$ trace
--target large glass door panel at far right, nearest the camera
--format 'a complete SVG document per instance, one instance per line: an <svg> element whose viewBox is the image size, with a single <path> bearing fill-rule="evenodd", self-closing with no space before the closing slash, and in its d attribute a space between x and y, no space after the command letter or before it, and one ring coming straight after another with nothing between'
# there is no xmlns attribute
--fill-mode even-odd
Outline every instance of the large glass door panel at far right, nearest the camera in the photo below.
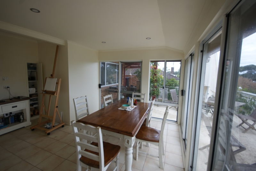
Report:
<svg viewBox="0 0 256 171"><path fill-rule="evenodd" d="M212 170L256 170L256 4L229 14L223 99Z"/></svg>

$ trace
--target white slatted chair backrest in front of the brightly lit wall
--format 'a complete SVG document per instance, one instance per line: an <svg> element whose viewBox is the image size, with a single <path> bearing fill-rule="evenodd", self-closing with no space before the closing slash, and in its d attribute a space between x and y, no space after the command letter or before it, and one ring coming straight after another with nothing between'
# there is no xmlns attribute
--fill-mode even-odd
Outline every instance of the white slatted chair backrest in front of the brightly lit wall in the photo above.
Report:
<svg viewBox="0 0 256 171"><path fill-rule="evenodd" d="M87 101L87 96L78 97L73 99L74 107L75 107L75 114L76 114L76 121L82 118L85 115L90 115L89 112L89 105ZM82 114L80 114L83 112Z"/></svg>

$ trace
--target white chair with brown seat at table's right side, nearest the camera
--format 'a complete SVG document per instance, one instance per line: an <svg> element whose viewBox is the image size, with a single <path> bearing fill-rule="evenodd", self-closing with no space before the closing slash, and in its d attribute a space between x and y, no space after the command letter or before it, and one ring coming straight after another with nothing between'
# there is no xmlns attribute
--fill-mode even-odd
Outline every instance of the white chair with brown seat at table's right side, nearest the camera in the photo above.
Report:
<svg viewBox="0 0 256 171"><path fill-rule="evenodd" d="M153 145L158 146L158 156L154 156L154 155L146 153L146 152L141 152L141 153L144 153L144 154L147 154L147 155L150 155L153 157L158 157L160 168L164 169L163 156L162 156L162 155L164 155L164 138L163 137L164 137L164 126L165 126L165 122L166 122L168 113L169 113L169 106L167 106L165 109L161 130L150 128L147 126L140 127L140 130L136 134L135 160L138 160L138 153L140 152L139 151L139 142L151 143Z"/></svg>

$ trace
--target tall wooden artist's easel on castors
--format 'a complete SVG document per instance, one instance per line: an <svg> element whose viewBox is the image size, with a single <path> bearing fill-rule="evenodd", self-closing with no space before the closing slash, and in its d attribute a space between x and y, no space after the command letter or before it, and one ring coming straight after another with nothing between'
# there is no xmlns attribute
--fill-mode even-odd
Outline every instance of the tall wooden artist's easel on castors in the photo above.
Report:
<svg viewBox="0 0 256 171"><path fill-rule="evenodd" d="M59 48L59 46L57 45L56 52L55 52L54 64L53 64L53 70L52 70L51 77L49 77L49 78L54 78L55 66L56 66L57 55L58 55L58 48ZM45 87L46 79L47 78L45 78L44 87ZM60 114L59 114L59 111L58 111L58 100L59 100L59 94L60 94L60 83L61 83L61 78L59 78L59 82L56 82L56 85L58 85L57 91L42 90L43 93L40 93L40 94L43 94L43 97L42 97L42 105L41 105L40 113L39 113L39 120L38 120L38 124L36 126L32 126L30 128L31 130L35 130L35 128L40 129L40 130L45 130L45 133L47 135L50 135L51 131L59 128L60 126L64 127L65 123L61 121ZM45 95L49 95L49 103L48 103L48 109L47 110L46 110L46 108L44 106ZM56 96L56 101L55 101L53 116L50 116L49 112L50 112L50 105L51 105L52 96ZM43 115L43 108L44 108L45 113L47 115ZM55 118L56 118L56 112L58 113L58 116L60 118L60 122L61 123L54 126ZM44 122L41 122L42 121L42 117L48 118L48 120L44 121ZM49 122L50 123L52 122L52 128L51 129L44 128L44 124L45 123L49 123Z"/></svg>

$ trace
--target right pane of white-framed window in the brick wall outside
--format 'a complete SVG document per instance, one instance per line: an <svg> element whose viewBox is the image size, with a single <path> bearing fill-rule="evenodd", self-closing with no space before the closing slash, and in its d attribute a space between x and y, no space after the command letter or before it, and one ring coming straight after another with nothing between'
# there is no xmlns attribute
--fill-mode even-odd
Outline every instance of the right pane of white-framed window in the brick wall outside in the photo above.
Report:
<svg viewBox="0 0 256 171"><path fill-rule="evenodd" d="M106 85L116 84L117 82L117 65L106 63Z"/></svg>

